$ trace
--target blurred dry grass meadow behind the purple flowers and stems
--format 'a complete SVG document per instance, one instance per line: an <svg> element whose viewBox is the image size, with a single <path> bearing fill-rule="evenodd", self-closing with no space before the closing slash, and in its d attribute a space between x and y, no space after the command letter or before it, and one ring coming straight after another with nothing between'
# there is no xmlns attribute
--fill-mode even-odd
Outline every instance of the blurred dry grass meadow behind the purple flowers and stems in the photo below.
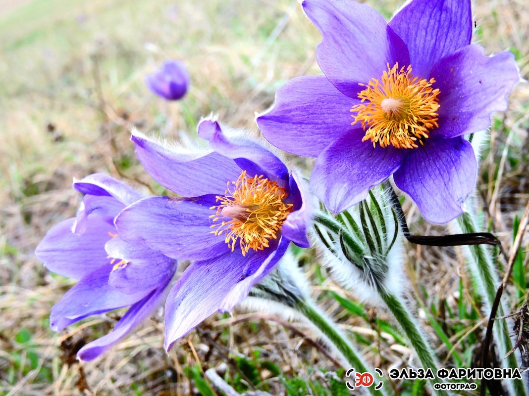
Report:
<svg viewBox="0 0 529 396"><path fill-rule="evenodd" d="M368 3L387 18L400 5ZM512 51L527 79L529 2L474 3L475 41L489 54ZM1 395L222 395L204 379L210 367L240 393L343 391L343 372L308 328L243 310L206 320L169 354L159 313L112 351L79 363L78 349L110 331L122 312L53 333L51 306L73 281L50 274L33 253L53 224L75 214L74 177L107 172L164 192L136 161L131 128L192 144L197 121L213 112L257 133L254 112L270 106L284 82L320 73L318 42L296 0L0 0ZM167 59L182 60L191 76L178 102L144 83ZM529 88L521 83L509 111L492 122L481 162L478 199L506 251L529 197L528 110ZM291 158L296 164L305 160ZM414 233L449 231L423 221L410 203L405 211ZM506 297L513 310L525 298L528 246ZM328 278L314 251L297 254L313 296L370 363L407 366L411 350L388 318ZM443 364L471 366L485 326L460 251L407 244L406 254L409 299ZM413 388L386 386L400 394Z"/></svg>

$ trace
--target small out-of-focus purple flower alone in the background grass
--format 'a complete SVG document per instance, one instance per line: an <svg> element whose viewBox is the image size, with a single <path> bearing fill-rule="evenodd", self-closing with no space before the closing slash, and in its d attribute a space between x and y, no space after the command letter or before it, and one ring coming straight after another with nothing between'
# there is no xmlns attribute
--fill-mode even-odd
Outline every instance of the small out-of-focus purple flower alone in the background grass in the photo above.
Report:
<svg viewBox="0 0 529 396"><path fill-rule="evenodd" d="M189 73L184 63L177 60L163 62L160 69L147 74L145 83L149 89L166 100L178 100L184 97L189 86Z"/></svg>

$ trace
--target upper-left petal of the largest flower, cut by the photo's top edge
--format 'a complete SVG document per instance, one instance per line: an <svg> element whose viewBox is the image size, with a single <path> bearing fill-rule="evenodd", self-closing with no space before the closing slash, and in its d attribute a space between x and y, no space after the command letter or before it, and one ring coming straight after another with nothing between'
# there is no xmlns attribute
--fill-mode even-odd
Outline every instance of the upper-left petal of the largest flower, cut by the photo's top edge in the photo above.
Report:
<svg viewBox="0 0 529 396"><path fill-rule="evenodd" d="M357 98L387 63L407 64L406 45L373 8L353 0L304 0L303 9L322 33L316 60L325 77L344 95Z"/></svg>

